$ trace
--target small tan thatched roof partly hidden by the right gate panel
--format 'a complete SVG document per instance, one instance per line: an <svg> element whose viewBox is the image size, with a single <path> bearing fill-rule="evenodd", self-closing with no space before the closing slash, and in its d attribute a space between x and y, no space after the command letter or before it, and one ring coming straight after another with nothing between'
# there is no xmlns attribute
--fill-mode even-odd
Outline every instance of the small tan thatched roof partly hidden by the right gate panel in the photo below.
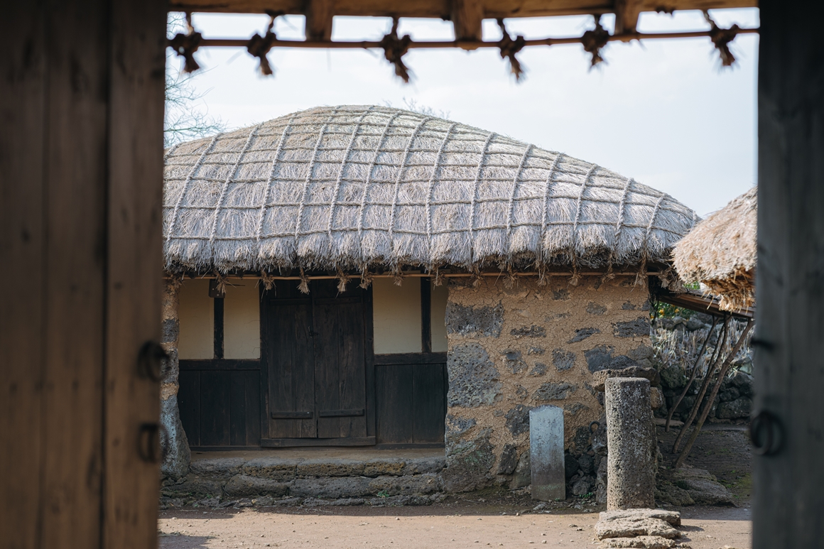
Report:
<svg viewBox="0 0 824 549"><path fill-rule="evenodd" d="M728 311L755 301L757 194L753 187L698 223L672 253L681 279L706 284Z"/></svg>

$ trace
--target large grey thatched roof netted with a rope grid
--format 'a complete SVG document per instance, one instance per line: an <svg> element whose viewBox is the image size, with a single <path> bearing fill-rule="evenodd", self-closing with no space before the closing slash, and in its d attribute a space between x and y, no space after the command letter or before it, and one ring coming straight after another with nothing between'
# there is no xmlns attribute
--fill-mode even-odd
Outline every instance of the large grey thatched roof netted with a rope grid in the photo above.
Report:
<svg viewBox="0 0 824 549"><path fill-rule="evenodd" d="M382 106L319 107L166 152L166 268L667 262L695 213L614 171Z"/></svg>

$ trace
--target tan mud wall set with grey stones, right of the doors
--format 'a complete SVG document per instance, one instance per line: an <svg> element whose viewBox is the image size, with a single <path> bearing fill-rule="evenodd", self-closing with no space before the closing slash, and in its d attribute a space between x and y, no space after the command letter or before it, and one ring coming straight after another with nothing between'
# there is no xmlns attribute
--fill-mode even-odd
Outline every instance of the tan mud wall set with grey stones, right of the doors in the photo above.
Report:
<svg viewBox="0 0 824 549"><path fill-rule="evenodd" d="M633 283L450 279L445 490L527 486L529 411L545 404L564 408L564 447L594 475L590 424L602 421L603 397L592 373L651 365L648 291Z"/></svg>

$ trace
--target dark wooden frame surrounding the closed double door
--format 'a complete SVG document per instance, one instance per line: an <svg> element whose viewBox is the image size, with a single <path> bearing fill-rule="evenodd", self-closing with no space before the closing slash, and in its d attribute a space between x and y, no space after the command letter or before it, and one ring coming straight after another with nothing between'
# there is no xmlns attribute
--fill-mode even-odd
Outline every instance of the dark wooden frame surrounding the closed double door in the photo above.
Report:
<svg viewBox="0 0 824 549"><path fill-rule="evenodd" d="M267 322L264 320L266 290L260 289L260 446L262 448L289 448L300 446L374 446L377 420L375 418L375 345L374 323L372 321L372 286L363 293L363 358L364 382L366 383L366 429L365 437L347 439L269 439L269 364L266 362L265 333ZM311 293L310 293L311 296ZM312 300L314 315L314 300Z"/></svg>

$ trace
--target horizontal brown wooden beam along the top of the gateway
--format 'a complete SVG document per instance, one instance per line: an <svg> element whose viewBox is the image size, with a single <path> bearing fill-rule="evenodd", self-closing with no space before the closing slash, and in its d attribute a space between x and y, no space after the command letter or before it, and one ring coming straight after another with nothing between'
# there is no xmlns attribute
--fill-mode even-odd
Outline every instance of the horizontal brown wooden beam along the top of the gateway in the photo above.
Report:
<svg viewBox="0 0 824 549"><path fill-rule="evenodd" d="M321 0L319 0L321 1ZM332 0L325 0L332 3ZM669 10L706 10L732 7L758 7L758 0L626 0L637 1L639 12ZM461 6L456 6L460 3ZM618 0L335 0L333 16L375 16L375 17L429 17L445 21L452 20L455 8L459 12L465 8L471 13L480 13L489 19L509 17L541 17L592 15L593 13L615 13ZM286 15L307 15L315 9L314 0L171 0L169 9L173 12L222 12L222 13L265 13L279 12ZM468 4L468 5L467 5ZM475 5L475 7L471 7ZM475 11L472 11L475 10ZM459 17L460 18L460 17ZM461 31L471 29L471 18ZM461 23L463 25L463 23ZM477 26L475 26L477 30Z"/></svg>

